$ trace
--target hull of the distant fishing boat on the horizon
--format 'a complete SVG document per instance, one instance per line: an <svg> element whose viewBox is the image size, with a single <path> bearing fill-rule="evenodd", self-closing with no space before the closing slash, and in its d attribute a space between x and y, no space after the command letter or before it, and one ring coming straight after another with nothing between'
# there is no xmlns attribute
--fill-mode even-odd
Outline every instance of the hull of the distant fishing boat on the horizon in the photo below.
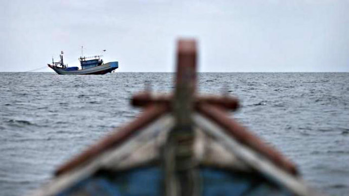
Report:
<svg viewBox="0 0 349 196"><path fill-rule="evenodd" d="M49 65L51 69L53 69L56 73L60 75L103 75L106 73L110 73L113 70L118 68L118 62L109 62L97 67L92 67L89 69L79 69L79 70L66 70L59 67L54 67Z"/></svg>

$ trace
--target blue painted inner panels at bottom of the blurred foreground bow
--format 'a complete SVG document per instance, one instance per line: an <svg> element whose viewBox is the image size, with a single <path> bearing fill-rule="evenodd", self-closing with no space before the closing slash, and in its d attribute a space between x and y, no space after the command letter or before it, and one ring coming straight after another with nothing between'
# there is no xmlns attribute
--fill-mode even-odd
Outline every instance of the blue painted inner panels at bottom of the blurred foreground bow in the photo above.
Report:
<svg viewBox="0 0 349 196"><path fill-rule="evenodd" d="M141 167L124 172L97 172L56 196L73 195L163 195L164 172L161 167ZM199 195L293 195L282 185L256 173L237 173L201 167Z"/></svg>

